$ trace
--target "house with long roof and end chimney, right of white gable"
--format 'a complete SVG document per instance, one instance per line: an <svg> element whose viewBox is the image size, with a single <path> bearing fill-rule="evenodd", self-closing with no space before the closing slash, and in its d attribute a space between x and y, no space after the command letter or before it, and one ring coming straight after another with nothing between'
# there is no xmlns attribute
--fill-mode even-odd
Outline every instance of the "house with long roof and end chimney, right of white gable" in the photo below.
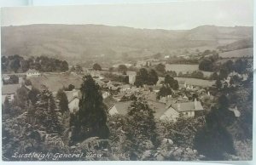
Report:
<svg viewBox="0 0 256 165"><path fill-rule="evenodd" d="M204 111L201 102L196 99L195 101L173 104L172 108L183 115L183 117L199 116L201 112Z"/></svg>

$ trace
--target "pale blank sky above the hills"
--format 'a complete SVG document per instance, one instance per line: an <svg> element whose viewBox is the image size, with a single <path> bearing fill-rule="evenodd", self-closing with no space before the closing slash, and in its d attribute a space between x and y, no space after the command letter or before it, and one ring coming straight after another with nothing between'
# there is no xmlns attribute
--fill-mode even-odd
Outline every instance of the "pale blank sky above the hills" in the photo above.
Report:
<svg viewBox="0 0 256 165"><path fill-rule="evenodd" d="M96 24L167 30L204 25L253 26L253 0L149 2L3 8L1 24Z"/></svg>

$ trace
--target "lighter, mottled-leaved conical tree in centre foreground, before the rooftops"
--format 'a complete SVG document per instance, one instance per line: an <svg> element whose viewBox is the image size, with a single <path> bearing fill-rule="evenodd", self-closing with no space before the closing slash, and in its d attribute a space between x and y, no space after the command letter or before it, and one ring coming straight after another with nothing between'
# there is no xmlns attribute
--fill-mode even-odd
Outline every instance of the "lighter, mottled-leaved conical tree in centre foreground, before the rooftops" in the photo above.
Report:
<svg viewBox="0 0 256 165"><path fill-rule="evenodd" d="M130 158L137 160L144 151L158 145L157 134L155 132L154 111L149 108L148 102L137 97L133 100L127 113L127 123L125 132Z"/></svg>

